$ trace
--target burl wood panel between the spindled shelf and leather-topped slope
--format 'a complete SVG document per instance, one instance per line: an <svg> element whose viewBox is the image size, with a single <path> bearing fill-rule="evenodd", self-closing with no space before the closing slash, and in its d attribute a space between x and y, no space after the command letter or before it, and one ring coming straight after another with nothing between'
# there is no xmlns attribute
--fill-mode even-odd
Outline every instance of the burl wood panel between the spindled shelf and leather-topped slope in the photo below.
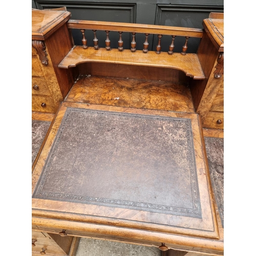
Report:
<svg viewBox="0 0 256 256"><path fill-rule="evenodd" d="M195 112L187 86L159 80L80 76L65 101Z"/></svg>

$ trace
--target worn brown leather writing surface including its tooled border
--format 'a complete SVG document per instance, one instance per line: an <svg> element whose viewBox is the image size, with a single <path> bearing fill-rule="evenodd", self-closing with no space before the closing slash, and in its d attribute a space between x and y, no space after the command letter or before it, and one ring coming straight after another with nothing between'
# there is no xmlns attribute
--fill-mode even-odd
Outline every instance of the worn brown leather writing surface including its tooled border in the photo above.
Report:
<svg viewBox="0 0 256 256"><path fill-rule="evenodd" d="M33 198L201 218L191 121L67 108Z"/></svg>

